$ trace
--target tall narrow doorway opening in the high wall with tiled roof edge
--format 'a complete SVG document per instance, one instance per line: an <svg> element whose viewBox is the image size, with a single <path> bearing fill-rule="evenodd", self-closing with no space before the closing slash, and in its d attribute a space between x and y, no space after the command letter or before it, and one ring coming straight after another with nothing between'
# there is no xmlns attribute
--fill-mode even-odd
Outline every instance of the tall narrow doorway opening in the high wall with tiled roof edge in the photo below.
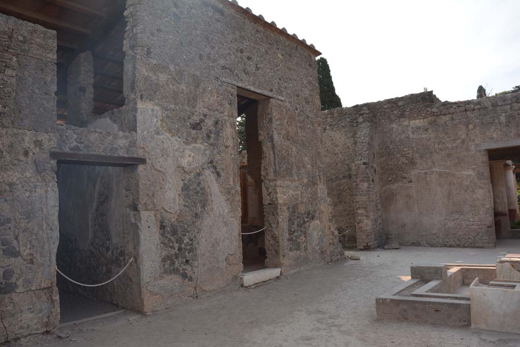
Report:
<svg viewBox="0 0 520 347"><path fill-rule="evenodd" d="M251 94L251 93L248 93ZM253 96L254 97L254 96ZM258 100L237 94L243 272L265 268L262 144L258 137Z"/></svg>

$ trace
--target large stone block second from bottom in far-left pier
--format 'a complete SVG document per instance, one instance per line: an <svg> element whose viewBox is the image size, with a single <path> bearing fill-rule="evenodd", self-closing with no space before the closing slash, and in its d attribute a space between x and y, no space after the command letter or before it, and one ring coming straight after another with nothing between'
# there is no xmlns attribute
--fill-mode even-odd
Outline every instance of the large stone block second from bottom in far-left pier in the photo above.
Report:
<svg viewBox="0 0 520 347"><path fill-rule="evenodd" d="M0 281L3 293L48 288L56 282L56 183L0 183Z"/></svg>

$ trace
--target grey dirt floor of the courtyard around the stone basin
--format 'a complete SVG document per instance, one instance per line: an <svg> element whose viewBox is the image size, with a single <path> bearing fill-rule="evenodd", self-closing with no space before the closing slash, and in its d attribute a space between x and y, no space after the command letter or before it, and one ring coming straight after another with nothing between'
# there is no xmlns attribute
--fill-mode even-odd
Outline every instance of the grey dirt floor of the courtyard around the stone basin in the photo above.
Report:
<svg viewBox="0 0 520 347"><path fill-rule="evenodd" d="M414 263L493 264L520 253L419 248L347 252L345 260L250 290L217 294L151 316L122 313L59 329L14 346L520 346L520 335L376 320L375 297L407 280Z"/></svg>

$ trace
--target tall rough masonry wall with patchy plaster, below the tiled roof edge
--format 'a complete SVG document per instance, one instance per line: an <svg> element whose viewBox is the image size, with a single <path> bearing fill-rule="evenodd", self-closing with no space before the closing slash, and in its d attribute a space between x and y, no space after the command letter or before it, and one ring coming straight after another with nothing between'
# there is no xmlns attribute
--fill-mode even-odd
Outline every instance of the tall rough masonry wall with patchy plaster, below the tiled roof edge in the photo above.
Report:
<svg viewBox="0 0 520 347"><path fill-rule="evenodd" d="M337 258L314 57L217 1L129 0L126 17L125 98L148 158L134 217L144 310L238 284L237 84L278 96L258 106L268 265Z"/></svg>

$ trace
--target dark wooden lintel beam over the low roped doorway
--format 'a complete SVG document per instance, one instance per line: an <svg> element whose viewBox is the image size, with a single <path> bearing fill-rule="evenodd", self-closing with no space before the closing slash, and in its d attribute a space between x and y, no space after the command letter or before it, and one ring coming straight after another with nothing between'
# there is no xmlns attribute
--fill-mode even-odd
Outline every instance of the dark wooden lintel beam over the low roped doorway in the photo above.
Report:
<svg viewBox="0 0 520 347"><path fill-rule="evenodd" d="M50 151L49 158L57 160L58 164L82 164L101 166L131 166L144 165L146 158L127 156L107 156L95 153Z"/></svg>

